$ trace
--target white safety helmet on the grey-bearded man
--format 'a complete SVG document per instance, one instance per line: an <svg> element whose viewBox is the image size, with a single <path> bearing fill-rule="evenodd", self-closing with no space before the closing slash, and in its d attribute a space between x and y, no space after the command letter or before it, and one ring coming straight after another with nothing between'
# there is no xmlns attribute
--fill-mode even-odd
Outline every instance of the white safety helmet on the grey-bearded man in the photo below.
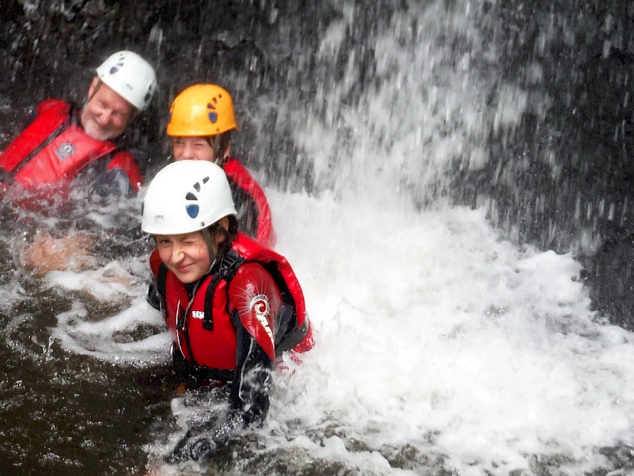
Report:
<svg viewBox="0 0 634 476"><path fill-rule="evenodd" d="M139 111L147 107L156 89L154 68L132 51L117 51L97 68L102 83Z"/></svg>

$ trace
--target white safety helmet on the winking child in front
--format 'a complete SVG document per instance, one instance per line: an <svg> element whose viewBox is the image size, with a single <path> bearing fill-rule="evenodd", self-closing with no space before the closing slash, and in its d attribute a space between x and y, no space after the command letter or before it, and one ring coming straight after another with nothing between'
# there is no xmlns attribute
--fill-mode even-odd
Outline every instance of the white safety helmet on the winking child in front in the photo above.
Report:
<svg viewBox="0 0 634 476"><path fill-rule="evenodd" d="M206 160L179 160L156 174L141 213L144 232L180 235L207 228L236 211L223 169Z"/></svg>

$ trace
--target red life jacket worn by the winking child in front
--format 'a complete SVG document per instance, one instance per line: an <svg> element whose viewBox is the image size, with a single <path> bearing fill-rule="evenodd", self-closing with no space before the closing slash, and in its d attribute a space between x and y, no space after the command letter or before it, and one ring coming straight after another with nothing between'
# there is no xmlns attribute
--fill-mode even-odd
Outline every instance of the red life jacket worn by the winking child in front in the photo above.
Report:
<svg viewBox="0 0 634 476"><path fill-rule="evenodd" d="M161 263L158 250L154 250L150 256L150 266L158 283L159 293L165 300L166 324L185 360L213 370L235 370L236 331L231 322L230 311L237 305L229 302L228 291L235 272L249 262L260 264L271 274L282 299L292 306L295 320L293 329L287 329L283 336L274 336L273 339L271 335L267 335L266 326L254 324L241 316L245 329L272 361L284 350L310 350L313 336L306 316L304 294L285 257L263 248L242 233L238 233L232 243L232 252L232 257L228 254L228 268L231 270L226 273L222 271L221 265L216 275L205 276L194 291L191 302L185 286ZM269 316L267 323L268 329L273 329L273 333L276 330L273 320L275 317Z"/></svg>

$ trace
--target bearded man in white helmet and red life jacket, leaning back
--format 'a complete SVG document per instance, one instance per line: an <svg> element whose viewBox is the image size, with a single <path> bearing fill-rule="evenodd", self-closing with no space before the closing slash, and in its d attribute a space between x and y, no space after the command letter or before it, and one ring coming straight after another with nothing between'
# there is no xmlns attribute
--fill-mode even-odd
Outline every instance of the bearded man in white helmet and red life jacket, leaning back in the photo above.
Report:
<svg viewBox="0 0 634 476"><path fill-rule="evenodd" d="M101 191L139 190L142 176L135 158L111 142L143 111L156 89L156 75L132 51L118 51L96 70L81 110L60 99L47 99L37 116L0 153L0 180L27 190L75 178L96 169Z"/></svg>

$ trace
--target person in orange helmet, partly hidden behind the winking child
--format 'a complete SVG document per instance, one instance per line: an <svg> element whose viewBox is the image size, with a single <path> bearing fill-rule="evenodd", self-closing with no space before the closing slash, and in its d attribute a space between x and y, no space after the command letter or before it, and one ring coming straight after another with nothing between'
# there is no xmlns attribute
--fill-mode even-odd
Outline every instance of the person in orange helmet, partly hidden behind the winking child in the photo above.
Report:
<svg viewBox="0 0 634 476"><path fill-rule="evenodd" d="M193 85L175 97L167 125L173 159L206 160L222 167L229 179L240 231L273 248L271 208L251 173L231 155L232 130L237 130L233 101L223 87Z"/></svg>

